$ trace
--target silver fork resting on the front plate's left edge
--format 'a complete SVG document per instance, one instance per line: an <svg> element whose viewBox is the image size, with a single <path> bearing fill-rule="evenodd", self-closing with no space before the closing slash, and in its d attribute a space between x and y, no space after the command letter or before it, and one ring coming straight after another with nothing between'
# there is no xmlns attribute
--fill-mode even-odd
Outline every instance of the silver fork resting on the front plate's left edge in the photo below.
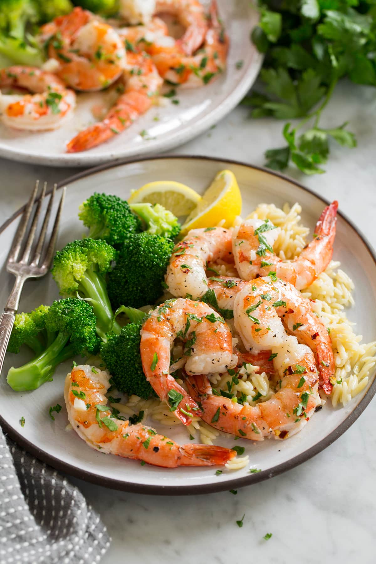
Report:
<svg viewBox="0 0 376 564"><path fill-rule="evenodd" d="M32 246L36 236L38 219L39 215L41 214L43 200L45 199L46 195L47 183L45 182L43 184L42 193L36 206L32 224L30 225L28 233L26 233L30 215L33 211L34 202L36 201L38 187L39 180L37 180L36 185L34 186L34 189L32 191L32 195L30 196L30 199L26 204L25 211L20 219L20 224L16 231L16 235L14 237L13 244L8 255L7 271L15 275L16 281L4 308L4 313L2 314L0 319L0 373L2 371L5 353L11 336L15 314L20 305L20 297L24 283L29 278L40 278L42 276L45 276L45 274L47 274L48 272L48 269L50 268L52 257L54 255L57 231L59 229L59 221L61 210L63 209L66 188L63 188L63 193L61 194L60 204L59 208L57 208L55 223L54 227L52 228L50 240L45 243L48 221L50 219L52 204L54 203L56 192L56 184L54 185L54 188L51 192L50 201L48 202L45 218L43 219L41 233L39 234L37 245L32 253Z"/></svg>

